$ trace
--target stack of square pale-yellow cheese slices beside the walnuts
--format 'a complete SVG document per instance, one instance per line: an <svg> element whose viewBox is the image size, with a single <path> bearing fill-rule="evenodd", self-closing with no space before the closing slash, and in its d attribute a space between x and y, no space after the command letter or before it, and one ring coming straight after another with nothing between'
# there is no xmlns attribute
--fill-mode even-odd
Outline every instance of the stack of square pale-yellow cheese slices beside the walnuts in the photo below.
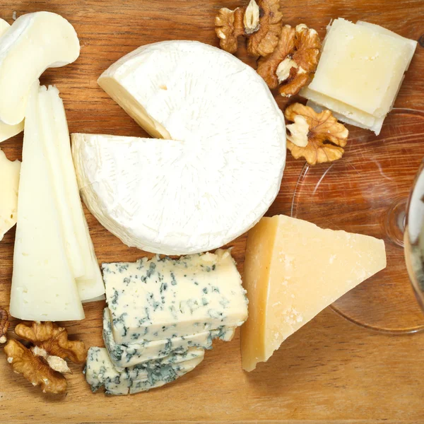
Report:
<svg viewBox="0 0 424 424"><path fill-rule="evenodd" d="M417 42L379 25L338 18L329 25L312 83L300 95L317 112L379 134Z"/></svg>

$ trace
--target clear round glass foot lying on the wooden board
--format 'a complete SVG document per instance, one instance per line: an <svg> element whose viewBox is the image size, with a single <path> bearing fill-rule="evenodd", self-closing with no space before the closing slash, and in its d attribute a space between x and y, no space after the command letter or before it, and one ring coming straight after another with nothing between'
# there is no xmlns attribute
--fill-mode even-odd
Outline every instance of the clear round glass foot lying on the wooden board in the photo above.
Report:
<svg viewBox="0 0 424 424"><path fill-rule="evenodd" d="M292 216L322 228L384 240L387 268L361 283L331 307L369 329L411 333L424 329L424 314L404 261L408 194L424 157L424 112L394 109L379 136L349 128L341 160L309 167L298 179Z"/></svg>

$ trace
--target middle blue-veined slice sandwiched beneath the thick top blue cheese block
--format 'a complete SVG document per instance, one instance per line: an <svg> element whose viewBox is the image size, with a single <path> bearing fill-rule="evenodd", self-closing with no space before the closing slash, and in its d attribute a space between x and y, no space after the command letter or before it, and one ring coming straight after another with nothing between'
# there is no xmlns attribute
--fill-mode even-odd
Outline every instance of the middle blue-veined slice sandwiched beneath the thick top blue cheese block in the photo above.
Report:
<svg viewBox="0 0 424 424"><path fill-rule="evenodd" d="M234 337L235 327L221 327L212 331L192 334L163 340L142 341L131 344L117 344L112 333L112 323L108 308L103 311L103 340L109 352L110 359L114 367L122 370L125 367L132 367L149 360L164 358L171 353L185 353L189 348L211 349L214 338L223 341L230 341Z"/></svg>

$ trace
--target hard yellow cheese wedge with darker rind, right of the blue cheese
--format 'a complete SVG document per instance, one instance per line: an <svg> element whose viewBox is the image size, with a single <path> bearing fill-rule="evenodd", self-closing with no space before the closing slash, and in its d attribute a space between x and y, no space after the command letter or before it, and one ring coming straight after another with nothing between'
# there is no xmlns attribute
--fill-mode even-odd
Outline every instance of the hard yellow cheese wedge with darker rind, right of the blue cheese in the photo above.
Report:
<svg viewBox="0 0 424 424"><path fill-rule="evenodd" d="M382 240L283 215L262 218L247 239L243 368L268 360L288 336L385 266Z"/></svg>

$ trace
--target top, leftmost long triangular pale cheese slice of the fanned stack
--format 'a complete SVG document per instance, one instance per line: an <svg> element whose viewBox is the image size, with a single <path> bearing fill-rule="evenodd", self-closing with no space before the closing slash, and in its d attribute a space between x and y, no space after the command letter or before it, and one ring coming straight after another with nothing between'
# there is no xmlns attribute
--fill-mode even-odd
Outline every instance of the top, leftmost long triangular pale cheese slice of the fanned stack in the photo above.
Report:
<svg viewBox="0 0 424 424"><path fill-rule="evenodd" d="M44 152L38 90L37 83L26 111L10 312L31 321L83 319Z"/></svg>

